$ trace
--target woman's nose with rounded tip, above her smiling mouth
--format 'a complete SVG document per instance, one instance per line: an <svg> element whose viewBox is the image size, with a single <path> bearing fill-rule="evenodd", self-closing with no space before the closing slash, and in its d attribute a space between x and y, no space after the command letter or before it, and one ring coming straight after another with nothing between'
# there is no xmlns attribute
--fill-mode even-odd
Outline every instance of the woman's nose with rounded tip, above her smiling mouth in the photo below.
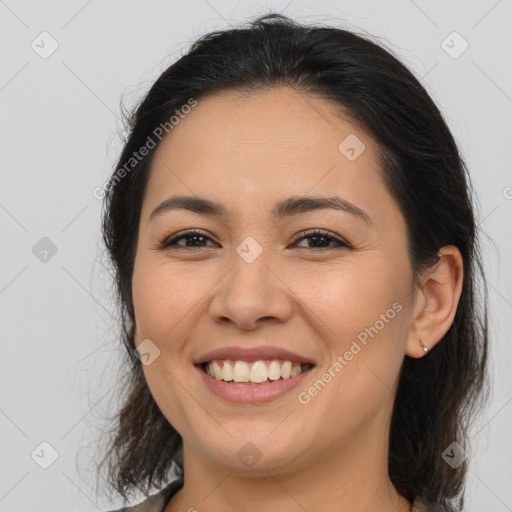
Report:
<svg viewBox="0 0 512 512"><path fill-rule="evenodd" d="M278 274L262 256L248 263L235 255L210 303L212 320L233 322L242 330L257 329L263 321L286 322L293 312L293 294Z"/></svg>

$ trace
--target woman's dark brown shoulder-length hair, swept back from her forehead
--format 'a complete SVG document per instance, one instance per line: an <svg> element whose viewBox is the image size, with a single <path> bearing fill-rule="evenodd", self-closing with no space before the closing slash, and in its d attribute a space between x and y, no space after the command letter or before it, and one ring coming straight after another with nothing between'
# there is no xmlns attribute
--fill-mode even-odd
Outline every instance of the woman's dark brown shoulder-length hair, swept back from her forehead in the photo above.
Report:
<svg viewBox="0 0 512 512"><path fill-rule="evenodd" d="M391 50L349 30L275 14L197 40L127 119L129 136L106 189L102 228L128 357L122 405L99 467L107 464L109 485L124 499L183 476L182 439L153 400L134 354L131 281L156 148L132 167L126 162L191 98L278 86L331 101L377 142L382 175L407 222L416 277L437 261L441 247L455 245L462 254L464 281L452 326L425 357L404 358L388 466L395 488L410 501L462 508L467 461L452 468L441 454L452 442L469 449L468 429L486 395L488 352L487 287L465 163L435 103Z"/></svg>

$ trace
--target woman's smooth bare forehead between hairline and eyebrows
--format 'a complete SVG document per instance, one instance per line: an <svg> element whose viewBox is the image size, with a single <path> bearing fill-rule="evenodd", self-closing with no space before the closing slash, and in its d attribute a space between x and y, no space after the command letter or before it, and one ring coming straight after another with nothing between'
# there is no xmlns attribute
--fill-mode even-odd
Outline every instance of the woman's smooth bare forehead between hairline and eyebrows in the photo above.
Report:
<svg viewBox="0 0 512 512"><path fill-rule="evenodd" d="M337 112L289 88L199 99L159 144L146 195L153 205L180 192L270 208L279 198L335 192L369 204L387 194L376 145Z"/></svg>

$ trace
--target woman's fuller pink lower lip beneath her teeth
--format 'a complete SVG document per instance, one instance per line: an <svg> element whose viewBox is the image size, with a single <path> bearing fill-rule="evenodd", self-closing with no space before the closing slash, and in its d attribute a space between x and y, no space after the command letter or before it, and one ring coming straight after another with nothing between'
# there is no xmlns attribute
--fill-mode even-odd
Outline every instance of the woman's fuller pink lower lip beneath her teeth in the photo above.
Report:
<svg viewBox="0 0 512 512"><path fill-rule="evenodd" d="M313 370L312 368L296 377L278 379L267 384L230 384L211 377L199 366L196 368L210 391L236 404L260 404L275 400L295 389Z"/></svg>

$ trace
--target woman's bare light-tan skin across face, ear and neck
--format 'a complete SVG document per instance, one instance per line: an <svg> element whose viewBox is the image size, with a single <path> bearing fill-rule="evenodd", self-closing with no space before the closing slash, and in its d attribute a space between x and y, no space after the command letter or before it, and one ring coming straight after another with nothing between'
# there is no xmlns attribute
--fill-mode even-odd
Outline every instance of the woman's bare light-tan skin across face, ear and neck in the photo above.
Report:
<svg viewBox="0 0 512 512"><path fill-rule="evenodd" d="M133 300L136 345L150 339L160 350L144 366L148 385L184 442L185 485L165 512L411 509L387 471L398 376L405 355L425 355L419 338L432 348L453 322L462 259L455 247L442 248L413 287L404 216L380 176L376 146L334 112L325 100L288 88L217 94L199 100L157 148ZM349 134L366 146L354 161L338 149ZM171 195L205 197L228 213L177 209L149 220ZM334 209L279 221L270 215L291 196L332 195L364 210L371 223ZM351 248L296 236L315 228ZM188 229L209 239L158 248ZM252 263L236 252L248 236L262 248ZM300 403L299 392L394 303L401 311ZM284 397L235 405L213 395L192 364L229 345L278 345L317 366ZM237 457L247 442L261 453L251 468Z"/></svg>

